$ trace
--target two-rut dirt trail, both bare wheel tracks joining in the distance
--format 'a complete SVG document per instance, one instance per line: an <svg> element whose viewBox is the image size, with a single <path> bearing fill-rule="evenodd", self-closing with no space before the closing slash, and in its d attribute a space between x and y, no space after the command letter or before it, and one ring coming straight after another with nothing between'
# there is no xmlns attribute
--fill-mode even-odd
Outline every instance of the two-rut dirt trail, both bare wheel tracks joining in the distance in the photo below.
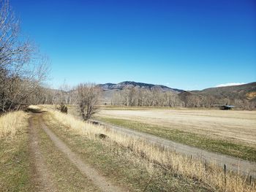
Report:
<svg viewBox="0 0 256 192"><path fill-rule="evenodd" d="M39 123L39 125L32 120L34 115L37 115L37 118L39 118L39 120L36 122ZM53 131L50 131L50 128L45 125L42 119L42 114L32 114L31 118L29 119L29 126L31 136L31 157L34 159L34 178L38 191L59 190L53 183L53 179L51 178L52 171L45 163L45 158L39 149L39 137L37 128L42 128L42 130L45 131L45 133L48 135L48 137L50 137L56 148L61 151L61 153L64 153L67 161L70 161L80 171L80 173L84 175L84 177L87 177L89 180L91 180L91 183L99 188L99 191L124 191L123 188L111 183L106 177L102 176L102 174L94 169L93 166L91 166L90 164L86 164L86 162L83 161L78 154L73 152L63 141L61 141L61 139L59 139L59 137L57 137L56 134L53 133ZM65 169L65 167L63 167L62 169ZM69 183L67 183L67 185L69 185ZM87 191L86 188L84 189L84 191Z"/></svg>

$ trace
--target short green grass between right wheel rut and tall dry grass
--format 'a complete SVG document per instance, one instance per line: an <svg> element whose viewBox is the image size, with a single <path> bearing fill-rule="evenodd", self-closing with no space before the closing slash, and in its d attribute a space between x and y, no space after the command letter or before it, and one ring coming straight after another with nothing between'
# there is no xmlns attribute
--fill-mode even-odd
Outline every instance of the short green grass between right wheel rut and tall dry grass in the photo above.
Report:
<svg viewBox="0 0 256 192"><path fill-rule="evenodd" d="M209 191L203 183L187 177L174 176L159 168L154 173L146 169L146 159L136 156L127 148L108 139L91 140L72 131L69 127L44 115L48 127L69 147L80 154L86 163L94 166L113 183L119 183L127 191Z"/></svg>

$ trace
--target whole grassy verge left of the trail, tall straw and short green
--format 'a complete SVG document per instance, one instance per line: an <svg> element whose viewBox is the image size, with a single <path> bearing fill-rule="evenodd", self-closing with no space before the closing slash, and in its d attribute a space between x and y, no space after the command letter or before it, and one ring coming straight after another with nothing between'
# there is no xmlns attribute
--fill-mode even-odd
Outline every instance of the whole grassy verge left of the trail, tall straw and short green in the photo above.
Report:
<svg viewBox="0 0 256 192"><path fill-rule="evenodd" d="M21 111L0 116L0 191L34 191L27 119Z"/></svg>

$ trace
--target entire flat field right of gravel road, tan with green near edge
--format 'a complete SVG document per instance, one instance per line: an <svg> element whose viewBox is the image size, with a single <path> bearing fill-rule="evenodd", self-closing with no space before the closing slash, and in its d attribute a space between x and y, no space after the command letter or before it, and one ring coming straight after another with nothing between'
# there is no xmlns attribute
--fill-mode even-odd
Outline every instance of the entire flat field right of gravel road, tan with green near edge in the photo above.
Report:
<svg viewBox="0 0 256 192"><path fill-rule="evenodd" d="M256 112L122 108L96 118L212 152L256 161Z"/></svg>

